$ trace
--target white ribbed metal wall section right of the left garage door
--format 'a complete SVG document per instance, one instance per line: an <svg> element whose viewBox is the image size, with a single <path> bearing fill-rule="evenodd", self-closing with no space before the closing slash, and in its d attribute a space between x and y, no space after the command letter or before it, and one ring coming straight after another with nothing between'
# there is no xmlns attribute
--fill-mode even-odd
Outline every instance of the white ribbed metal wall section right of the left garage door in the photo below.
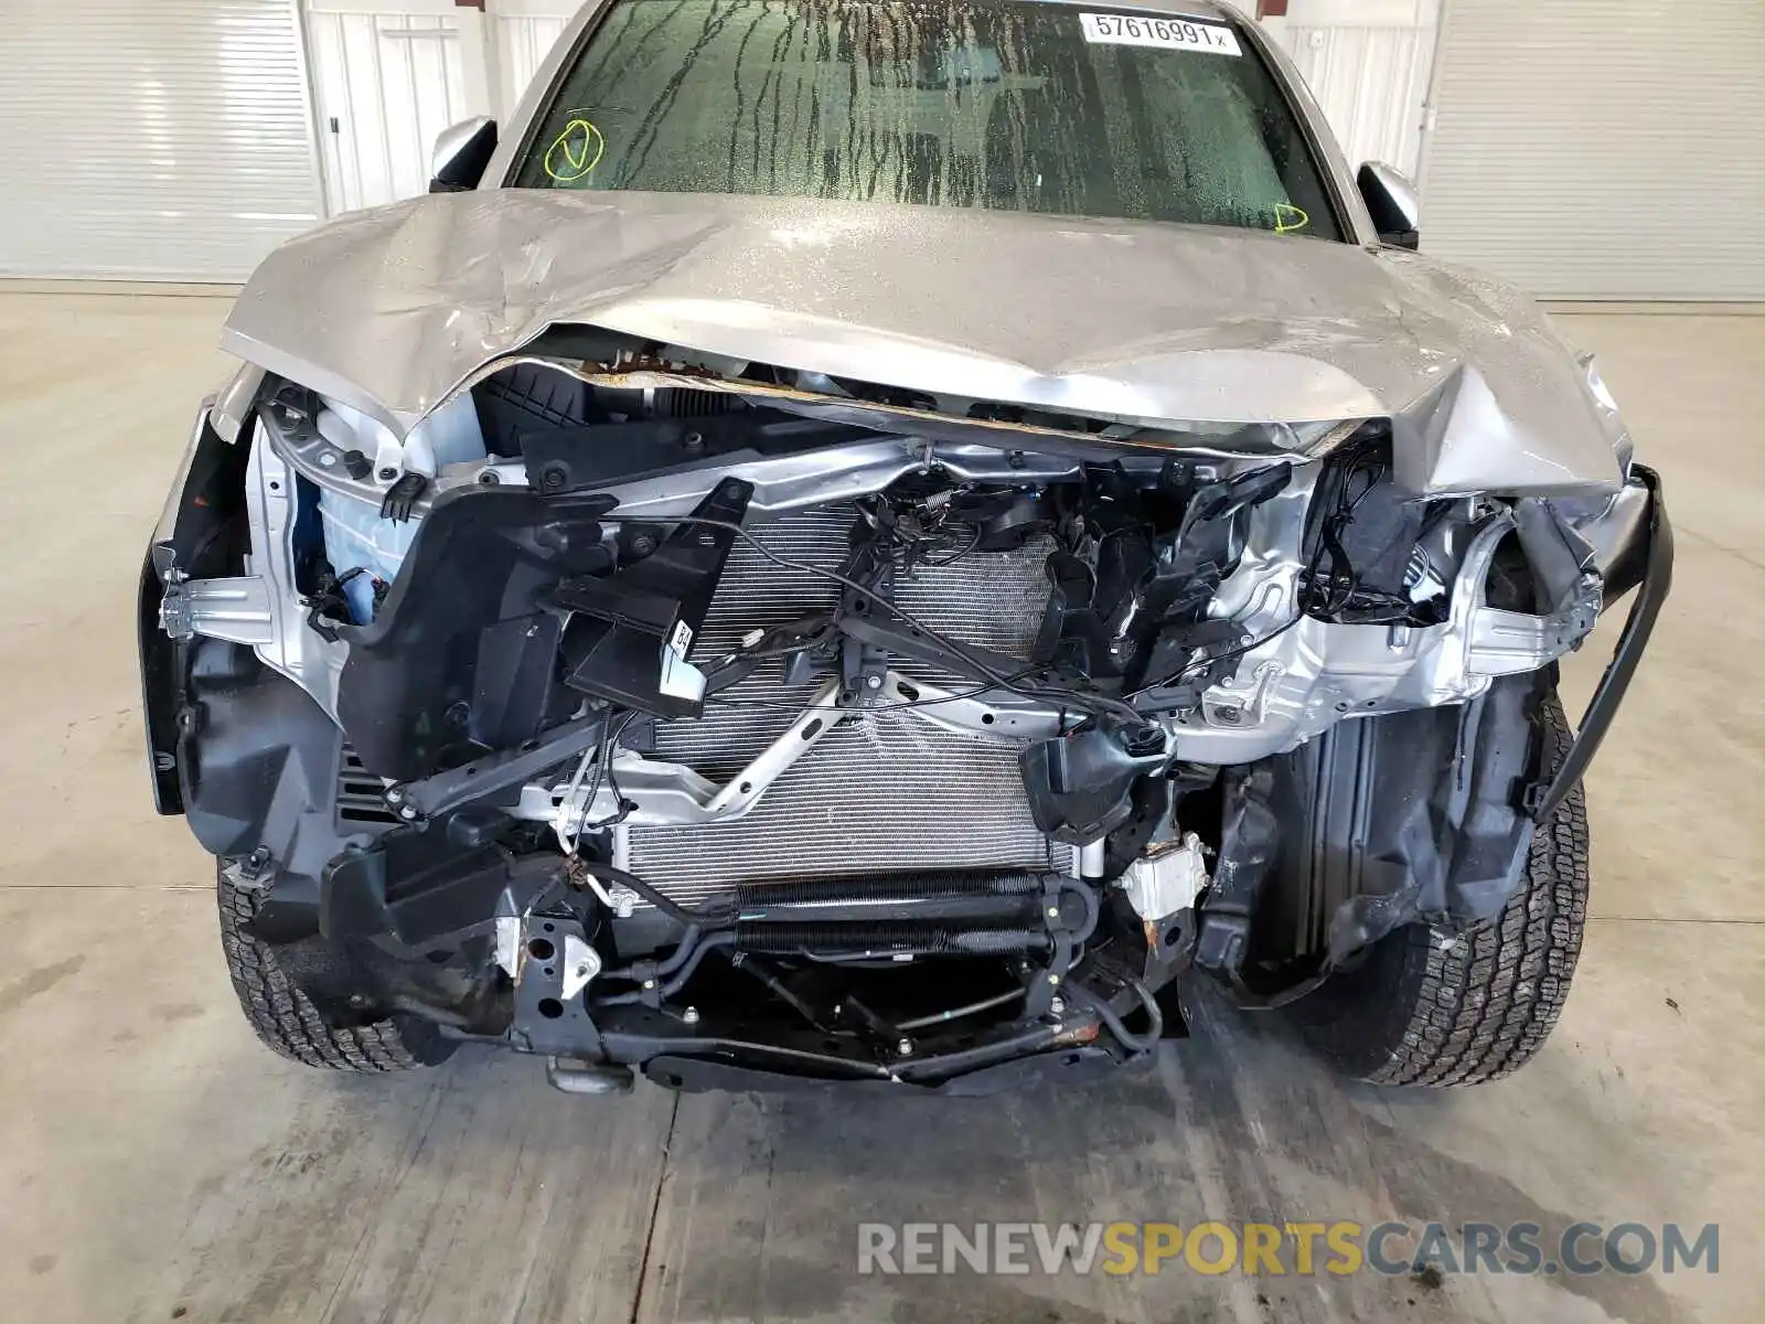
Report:
<svg viewBox="0 0 1765 1324"><path fill-rule="evenodd" d="M436 134L468 115L455 19L376 9L383 5L309 2L332 214L424 192Z"/></svg>

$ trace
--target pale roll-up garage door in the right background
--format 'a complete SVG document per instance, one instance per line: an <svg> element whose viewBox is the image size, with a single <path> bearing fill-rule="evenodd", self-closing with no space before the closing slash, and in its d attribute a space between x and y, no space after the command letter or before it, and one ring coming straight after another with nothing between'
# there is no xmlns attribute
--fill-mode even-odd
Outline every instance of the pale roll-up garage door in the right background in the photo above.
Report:
<svg viewBox="0 0 1765 1324"><path fill-rule="evenodd" d="M1765 298L1765 0L1447 0L1423 249L1558 298Z"/></svg>

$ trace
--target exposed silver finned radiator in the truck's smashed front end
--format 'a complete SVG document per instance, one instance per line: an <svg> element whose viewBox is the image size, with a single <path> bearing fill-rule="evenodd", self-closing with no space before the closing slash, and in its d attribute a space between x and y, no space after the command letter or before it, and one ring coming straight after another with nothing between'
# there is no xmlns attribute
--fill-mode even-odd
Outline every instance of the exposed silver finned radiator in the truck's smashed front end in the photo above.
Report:
<svg viewBox="0 0 1765 1324"><path fill-rule="evenodd" d="M851 507L822 507L752 531L778 556L835 570L852 519ZM1027 658L1048 602L1043 563L1050 549L1041 540L1017 553L921 567L897 584L895 600L960 643ZM837 598L837 584L785 570L738 542L692 657L715 660L748 630L826 611ZM897 660L895 669L951 688L974 685L923 664ZM658 724L653 757L724 782L796 718L817 685L787 687L784 666L770 662L715 696L702 718ZM1029 817L1020 749L1020 741L955 734L904 711L868 713L826 734L745 817L697 828L621 828L616 851L632 872L683 902L729 883L784 876L1066 872L1070 847L1052 846Z"/></svg>

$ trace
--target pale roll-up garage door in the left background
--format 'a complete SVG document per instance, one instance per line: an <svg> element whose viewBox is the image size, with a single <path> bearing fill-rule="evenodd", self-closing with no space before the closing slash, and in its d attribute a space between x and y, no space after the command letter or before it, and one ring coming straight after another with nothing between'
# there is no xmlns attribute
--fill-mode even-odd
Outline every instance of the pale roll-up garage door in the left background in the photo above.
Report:
<svg viewBox="0 0 1765 1324"><path fill-rule="evenodd" d="M295 0L0 9L0 274L237 281L319 219Z"/></svg>

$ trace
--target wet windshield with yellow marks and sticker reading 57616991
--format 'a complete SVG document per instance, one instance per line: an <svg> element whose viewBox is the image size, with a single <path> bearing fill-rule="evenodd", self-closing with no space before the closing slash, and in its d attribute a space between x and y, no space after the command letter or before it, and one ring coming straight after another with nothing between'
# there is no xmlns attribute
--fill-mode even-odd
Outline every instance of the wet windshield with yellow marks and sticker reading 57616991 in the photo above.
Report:
<svg viewBox="0 0 1765 1324"><path fill-rule="evenodd" d="M1221 21L997 0L620 0L558 88L521 187L1340 238L1274 76Z"/></svg>

